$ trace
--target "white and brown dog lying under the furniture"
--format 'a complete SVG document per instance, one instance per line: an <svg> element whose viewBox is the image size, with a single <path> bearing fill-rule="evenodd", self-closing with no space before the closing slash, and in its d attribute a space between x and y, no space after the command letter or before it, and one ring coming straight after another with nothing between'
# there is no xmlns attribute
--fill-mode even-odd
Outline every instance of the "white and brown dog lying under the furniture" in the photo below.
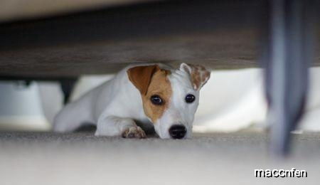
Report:
<svg viewBox="0 0 320 185"><path fill-rule="evenodd" d="M71 132L82 124L95 135L144 138L137 126L154 125L161 138L190 138L199 90L210 78L200 65L181 63L177 70L160 63L129 65L55 117L54 130Z"/></svg>

